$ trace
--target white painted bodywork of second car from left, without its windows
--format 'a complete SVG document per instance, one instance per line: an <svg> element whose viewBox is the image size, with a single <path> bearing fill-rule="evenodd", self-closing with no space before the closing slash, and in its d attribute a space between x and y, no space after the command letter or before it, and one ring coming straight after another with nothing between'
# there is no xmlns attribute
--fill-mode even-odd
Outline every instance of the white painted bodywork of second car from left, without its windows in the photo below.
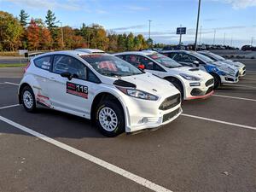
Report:
<svg viewBox="0 0 256 192"><path fill-rule="evenodd" d="M190 100L190 99L197 99L197 98L205 98L207 96L211 96L213 94L213 78L212 75L209 73L203 72L200 69L195 69L192 67L173 67L169 68L162 65L159 61L154 60L150 55L157 55L159 53L151 50L143 50L143 51L129 51L123 53L114 54L116 56L125 56L125 55L139 55L147 58L149 61L154 62L156 65L159 65L163 70L149 70L145 68L146 72L153 73L154 75L160 77L161 79L168 79L174 78L178 79L183 86L183 99ZM165 55L161 55L166 57ZM166 57L168 60L170 58ZM124 59L124 58L122 58ZM177 63L176 61L172 61ZM179 65L177 63L177 65ZM181 75L183 74L183 75ZM184 79L183 76L191 76L195 77L193 80Z"/></svg>

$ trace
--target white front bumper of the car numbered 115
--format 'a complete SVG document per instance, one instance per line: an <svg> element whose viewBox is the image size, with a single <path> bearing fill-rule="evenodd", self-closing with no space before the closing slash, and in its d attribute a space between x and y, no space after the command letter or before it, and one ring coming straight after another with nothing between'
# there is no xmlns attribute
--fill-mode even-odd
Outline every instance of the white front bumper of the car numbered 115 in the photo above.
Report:
<svg viewBox="0 0 256 192"><path fill-rule="evenodd" d="M179 94L179 93L177 93ZM181 102L179 101L172 108L161 110L160 106L165 99L160 101L143 101L136 98L127 97L130 101L125 106L126 127L125 131L131 133L145 129L154 129L161 125L166 125L182 113Z"/></svg>

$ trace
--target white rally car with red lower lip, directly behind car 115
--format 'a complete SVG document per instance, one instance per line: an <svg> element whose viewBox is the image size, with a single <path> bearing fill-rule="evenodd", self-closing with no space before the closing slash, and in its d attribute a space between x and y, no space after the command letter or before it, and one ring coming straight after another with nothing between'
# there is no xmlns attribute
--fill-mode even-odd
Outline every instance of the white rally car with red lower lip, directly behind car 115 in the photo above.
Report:
<svg viewBox="0 0 256 192"><path fill-rule="evenodd" d="M183 67L155 51L131 51L114 55L146 72L170 81L180 90L184 100L205 98L213 94L212 75L193 67Z"/></svg>

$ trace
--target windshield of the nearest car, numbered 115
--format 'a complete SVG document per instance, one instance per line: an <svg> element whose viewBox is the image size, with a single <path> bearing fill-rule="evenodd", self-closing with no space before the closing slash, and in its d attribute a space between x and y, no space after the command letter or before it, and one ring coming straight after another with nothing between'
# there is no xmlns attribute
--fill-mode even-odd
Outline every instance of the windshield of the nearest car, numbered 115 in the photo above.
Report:
<svg viewBox="0 0 256 192"><path fill-rule="evenodd" d="M109 77L124 77L142 74L143 72L130 63L113 55L80 55L98 73Z"/></svg>

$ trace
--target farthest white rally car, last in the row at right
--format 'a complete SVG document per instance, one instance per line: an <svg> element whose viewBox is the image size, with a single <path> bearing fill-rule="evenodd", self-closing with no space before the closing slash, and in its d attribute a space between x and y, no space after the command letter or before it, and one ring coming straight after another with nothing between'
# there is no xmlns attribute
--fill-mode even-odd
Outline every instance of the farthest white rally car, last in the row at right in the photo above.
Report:
<svg viewBox="0 0 256 192"><path fill-rule="evenodd" d="M198 53L200 53L201 55L205 55L205 56L211 58L213 61L221 61L221 62L224 62L224 63L227 63L227 64L229 64L231 66L236 67L238 69L238 72L239 72L239 77L243 77L243 76L246 75L246 66L243 63L241 63L241 62L227 60L224 57L222 57L220 55L217 55L217 54L213 54L210 51L198 51Z"/></svg>

